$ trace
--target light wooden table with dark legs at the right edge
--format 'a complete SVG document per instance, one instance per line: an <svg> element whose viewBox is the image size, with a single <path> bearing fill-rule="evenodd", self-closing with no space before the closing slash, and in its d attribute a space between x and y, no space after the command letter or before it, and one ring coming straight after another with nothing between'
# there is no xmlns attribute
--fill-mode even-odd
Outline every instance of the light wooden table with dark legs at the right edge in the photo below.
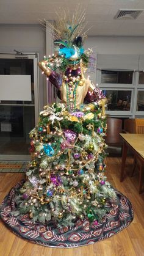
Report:
<svg viewBox="0 0 144 256"><path fill-rule="evenodd" d="M124 167L126 164L126 156L128 148L134 153L134 156L140 161L140 177L139 177L139 192L142 189L142 167L144 164L144 134L120 133L123 139L123 154L121 163L121 177L124 178Z"/></svg>

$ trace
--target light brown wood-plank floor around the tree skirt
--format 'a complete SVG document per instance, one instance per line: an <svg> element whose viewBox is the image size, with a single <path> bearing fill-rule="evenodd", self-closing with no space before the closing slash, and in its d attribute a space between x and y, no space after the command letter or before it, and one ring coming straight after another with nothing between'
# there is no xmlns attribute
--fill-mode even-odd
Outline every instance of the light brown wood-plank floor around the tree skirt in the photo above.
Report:
<svg viewBox="0 0 144 256"><path fill-rule="evenodd" d="M1 256L142 256L144 255L144 193L139 195L138 175L130 177L132 158L127 159L126 177L120 183L121 158L107 158L107 179L126 195L134 208L134 221L129 227L111 238L99 243L75 249L55 249L38 246L15 236L0 222ZM23 174L0 174L0 201Z"/></svg>

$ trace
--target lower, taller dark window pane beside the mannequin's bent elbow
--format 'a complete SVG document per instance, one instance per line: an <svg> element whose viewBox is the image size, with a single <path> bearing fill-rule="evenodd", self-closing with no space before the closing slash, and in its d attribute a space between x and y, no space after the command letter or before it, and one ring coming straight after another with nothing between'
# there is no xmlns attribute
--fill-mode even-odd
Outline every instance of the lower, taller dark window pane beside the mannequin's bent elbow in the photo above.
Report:
<svg viewBox="0 0 144 256"><path fill-rule="evenodd" d="M107 97L108 111L130 111L131 90L103 90Z"/></svg>

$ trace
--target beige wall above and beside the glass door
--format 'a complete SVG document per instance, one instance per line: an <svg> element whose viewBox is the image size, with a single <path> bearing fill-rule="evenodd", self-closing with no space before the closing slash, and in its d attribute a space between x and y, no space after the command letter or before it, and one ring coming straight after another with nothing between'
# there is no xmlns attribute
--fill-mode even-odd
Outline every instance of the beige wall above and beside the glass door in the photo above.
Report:
<svg viewBox="0 0 144 256"><path fill-rule="evenodd" d="M39 53L43 59L45 49L45 30L40 25L0 24L0 53L13 53L13 48L24 53ZM39 70L40 110L46 103L45 77Z"/></svg>

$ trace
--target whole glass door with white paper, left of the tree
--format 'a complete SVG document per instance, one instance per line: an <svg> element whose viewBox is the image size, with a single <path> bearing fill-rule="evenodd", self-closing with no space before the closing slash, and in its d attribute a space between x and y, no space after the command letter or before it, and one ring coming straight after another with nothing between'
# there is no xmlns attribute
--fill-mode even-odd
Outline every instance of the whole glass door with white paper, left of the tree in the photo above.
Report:
<svg viewBox="0 0 144 256"><path fill-rule="evenodd" d="M0 160L29 160L38 119L37 54L0 54Z"/></svg>

